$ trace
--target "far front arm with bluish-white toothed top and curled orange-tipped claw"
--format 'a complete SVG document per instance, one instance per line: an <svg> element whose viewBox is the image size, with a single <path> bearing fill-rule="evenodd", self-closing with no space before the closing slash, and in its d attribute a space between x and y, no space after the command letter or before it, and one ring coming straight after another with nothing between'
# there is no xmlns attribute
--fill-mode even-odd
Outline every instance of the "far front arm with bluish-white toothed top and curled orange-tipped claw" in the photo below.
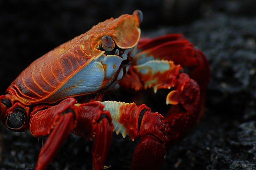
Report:
<svg viewBox="0 0 256 170"><path fill-rule="evenodd" d="M131 66L120 85L137 90L152 87L155 92L161 88L171 90L167 95L166 104L173 106L162 120L168 130L169 143L184 137L198 118L199 86L183 72L180 65L174 65L171 61L152 60Z"/></svg>

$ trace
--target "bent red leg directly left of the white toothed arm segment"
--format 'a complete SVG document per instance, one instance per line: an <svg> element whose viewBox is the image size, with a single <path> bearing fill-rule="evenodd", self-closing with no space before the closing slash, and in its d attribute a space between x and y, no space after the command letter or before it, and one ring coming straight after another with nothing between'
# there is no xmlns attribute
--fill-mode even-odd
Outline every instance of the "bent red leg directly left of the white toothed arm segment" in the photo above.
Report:
<svg viewBox="0 0 256 170"><path fill-rule="evenodd" d="M114 128L110 113L103 111L103 107L104 105L93 100L74 106L77 112L77 126L72 132L90 140L94 137L93 169L103 169Z"/></svg>

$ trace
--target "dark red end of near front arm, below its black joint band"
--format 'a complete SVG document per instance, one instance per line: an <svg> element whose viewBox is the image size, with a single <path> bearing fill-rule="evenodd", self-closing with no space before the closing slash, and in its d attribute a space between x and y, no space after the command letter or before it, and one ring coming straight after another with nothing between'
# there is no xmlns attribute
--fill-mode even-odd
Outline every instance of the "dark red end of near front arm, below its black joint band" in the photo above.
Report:
<svg viewBox="0 0 256 170"><path fill-rule="evenodd" d="M141 141L133 153L131 169L160 169L167 140L162 118L158 113L145 111L139 129Z"/></svg>

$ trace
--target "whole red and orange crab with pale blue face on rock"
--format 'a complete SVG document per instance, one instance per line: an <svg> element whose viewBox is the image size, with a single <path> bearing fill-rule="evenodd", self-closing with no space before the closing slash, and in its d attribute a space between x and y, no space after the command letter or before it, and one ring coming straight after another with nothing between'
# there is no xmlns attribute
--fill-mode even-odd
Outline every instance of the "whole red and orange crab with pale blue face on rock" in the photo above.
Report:
<svg viewBox="0 0 256 170"><path fill-rule="evenodd" d="M139 137L132 169L159 169L166 147L204 112L210 70L204 54L182 34L140 39L142 12L98 23L31 63L0 96L10 130L48 136L35 169L45 169L72 132L93 141L93 169L103 169L112 131ZM189 72L185 73L184 69ZM145 104L103 101L117 89L169 89L163 117Z"/></svg>

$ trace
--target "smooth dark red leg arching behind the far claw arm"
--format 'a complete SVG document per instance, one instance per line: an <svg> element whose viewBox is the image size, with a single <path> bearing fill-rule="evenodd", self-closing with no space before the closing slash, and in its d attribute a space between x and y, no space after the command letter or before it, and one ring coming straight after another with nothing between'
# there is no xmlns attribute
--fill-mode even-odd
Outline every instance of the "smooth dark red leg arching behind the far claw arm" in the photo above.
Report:
<svg viewBox="0 0 256 170"><path fill-rule="evenodd" d="M201 113L204 112L207 85L210 81L210 66L204 54L194 48L182 34L168 34L153 39L142 40L139 52L134 57L133 65L140 65L150 60L168 60L176 65L189 68L189 76L200 86Z"/></svg>

